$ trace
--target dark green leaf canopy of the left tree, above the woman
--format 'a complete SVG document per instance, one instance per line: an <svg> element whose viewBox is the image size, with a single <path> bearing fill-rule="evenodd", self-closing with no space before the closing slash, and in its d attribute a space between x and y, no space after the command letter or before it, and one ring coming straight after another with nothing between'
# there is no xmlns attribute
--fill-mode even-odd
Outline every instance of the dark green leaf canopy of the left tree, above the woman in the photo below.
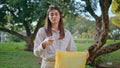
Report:
<svg viewBox="0 0 120 68"><path fill-rule="evenodd" d="M5 0L1 1L0 4L2 7L0 11L2 12L1 19L5 19L7 22L1 21L1 25L10 24L10 28L14 28L15 26L23 27L24 22L28 23L31 30L32 24L34 21L38 21L39 19L45 18L46 11L50 4L56 4L60 6L63 14L65 15L68 12L74 10L74 0L60 1L58 4L57 1L51 0ZM73 8L71 8L73 7ZM7 12L7 13L6 13ZM72 13L72 12L71 12ZM1 26L0 25L0 26ZM23 26L22 26L23 25Z"/></svg>

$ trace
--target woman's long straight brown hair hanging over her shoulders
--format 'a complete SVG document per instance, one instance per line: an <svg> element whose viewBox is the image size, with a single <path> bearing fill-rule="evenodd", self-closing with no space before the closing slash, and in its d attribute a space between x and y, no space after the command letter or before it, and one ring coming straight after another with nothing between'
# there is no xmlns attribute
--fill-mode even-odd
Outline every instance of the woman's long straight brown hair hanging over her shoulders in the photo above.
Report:
<svg viewBox="0 0 120 68"><path fill-rule="evenodd" d="M58 29L60 31L60 36L59 36L59 39L63 39L65 37L65 32L64 32L64 23L63 23L63 19L62 19L62 14L59 10L59 8L55 5L50 5L49 6L49 9L47 11L47 15L46 15L46 25L45 25L45 30L46 30L46 34L48 37L52 36L52 24L51 24L51 21L49 19L49 12L51 10L57 10L60 14L60 21L59 21L59 24L58 24Z"/></svg>

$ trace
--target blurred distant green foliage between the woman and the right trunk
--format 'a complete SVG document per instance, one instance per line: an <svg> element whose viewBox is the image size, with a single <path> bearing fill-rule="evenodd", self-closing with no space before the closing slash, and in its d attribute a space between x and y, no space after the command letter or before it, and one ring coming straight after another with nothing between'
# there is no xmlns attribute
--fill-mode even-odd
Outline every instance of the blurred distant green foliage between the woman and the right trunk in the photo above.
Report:
<svg viewBox="0 0 120 68"><path fill-rule="evenodd" d="M78 35L80 37L82 37L83 33L88 34L90 37L93 35L93 27L95 25L94 21L90 21L80 16L75 18L73 16L66 16L64 22L65 27L74 35Z"/></svg>

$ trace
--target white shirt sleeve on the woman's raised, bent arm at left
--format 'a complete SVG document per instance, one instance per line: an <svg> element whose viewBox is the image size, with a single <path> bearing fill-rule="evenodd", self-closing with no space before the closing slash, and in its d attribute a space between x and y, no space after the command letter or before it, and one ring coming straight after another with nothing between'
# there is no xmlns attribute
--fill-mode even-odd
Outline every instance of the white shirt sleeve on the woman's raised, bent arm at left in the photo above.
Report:
<svg viewBox="0 0 120 68"><path fill-rule="evenodd" d="M39 31L36 35L35 41L34 41L34 55L37 57L40 57L44 51L44 49L42 47L42 42L44 40L44 32L43 31L44 31L43 28L39 29Z"/></svg>

